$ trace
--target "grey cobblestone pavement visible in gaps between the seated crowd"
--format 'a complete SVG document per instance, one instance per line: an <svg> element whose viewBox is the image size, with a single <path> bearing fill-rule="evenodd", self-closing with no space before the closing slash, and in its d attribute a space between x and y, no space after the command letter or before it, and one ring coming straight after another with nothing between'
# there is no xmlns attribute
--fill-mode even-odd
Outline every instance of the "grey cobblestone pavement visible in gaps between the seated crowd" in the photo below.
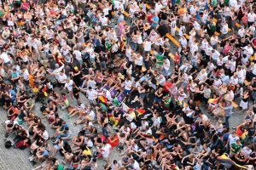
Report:
<svg viewBox="0 0 256 170"><path fill-rule="evenodd" d="M175 52L176 48L172 47L172 52ZM172 65L173 67L173 65ZM236 104L239 105L241 99L236 99ZM81 101L83 103L88 103L88 100L85 99L84 95L81 95ZM71 105L75 105L75 102L73 102ZM41 111L39 110L40 108L40 104L37 103L33 109L33 112L38 115L38 116L42 116ZM212 119L212 124L214 124L217 119L214 119L212 116L209 116L207 114L207 110L206 108L201 108L201 110L209 117ZM82 127L82 125L78 125L76 127L73 126L73 122L76 119L75 117L72 117L71 119L67 119L67 110L66 111L61 111L61 109L59 109L58 111L59 115L61 116L62 119L64 119L65 121L67 121L67 123L69 124L69 127L71 128L71 131L73 132L73 135L76 135L77 132L79 131L79 129ZM3 108L0 108L0 114L2 115L3 119L0 122L3 125L4 122L4 117L6 116L6 111L3 110ZM241 111L239 111L239 109L234 109L234 114L233 116L230 117L230 127L236 127L238 124L240 124L242 122L244 115L241 113ZM224 121L224 120L223 120ZM43 120L44 124L47 125L48 122L44 119ZM23 124L23 126L27 127L25 124ZM97 127L97 126L96 126ZM53 136L54 134L54 130L46 127L47 131L49 133L50 136ZM35 166L32 166L32 163L27 159L30 155L28 153L29 149L26 150L19 150L19 149L14 149L14 148L10 148L10 149L5 149L4 147L4 134L5 134L5 130L3 126L0 126L0 140L2 140L2 142L0 142L0 169L8 169L8 170L15 170L15 169L20 169L20 170L28 170L31 169L32 167L37 167L39 165L39 163ZM69 141L69 143L71 144L71 141ZM51 140L49 139L49 144L51 144ZM61 159L61 156L59 155L59 153L56 154L56 157L58 159ZM119 153L113 149L111 151L110 154L110 161L118 160L119 161ZM99 170L103 170L103 161L102 158L97 160L98 162L98 169Z"/></svg>

